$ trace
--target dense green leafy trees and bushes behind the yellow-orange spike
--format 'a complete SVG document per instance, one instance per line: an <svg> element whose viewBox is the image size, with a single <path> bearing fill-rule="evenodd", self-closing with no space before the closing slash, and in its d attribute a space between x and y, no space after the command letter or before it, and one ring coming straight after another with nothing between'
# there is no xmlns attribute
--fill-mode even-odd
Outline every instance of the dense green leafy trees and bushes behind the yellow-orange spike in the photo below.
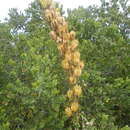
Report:
<svg viewBox="0 0 130 130"><path fill-rule="evenodd" d="M130 6L68 10L85 67L78 116L68 119L66 75L37 1L0 23L0 130L129 130ZM62 7L60 7L64 14Z"/></svg>

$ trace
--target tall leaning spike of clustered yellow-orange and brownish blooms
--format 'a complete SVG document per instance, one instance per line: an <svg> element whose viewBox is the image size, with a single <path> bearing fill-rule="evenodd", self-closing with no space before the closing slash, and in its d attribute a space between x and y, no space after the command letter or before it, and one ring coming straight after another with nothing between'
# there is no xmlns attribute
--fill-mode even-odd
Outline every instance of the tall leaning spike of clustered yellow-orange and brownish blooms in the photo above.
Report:
<svg viewBox="0 0 130 130"><path fill-rule="evenodd" d="M57 48L62 57L61 65L68 74L69 90L67 97L69 106L65 108L65 114L71 117L79 109L79 97L82 93L81 87L77 84L84 67L78 51L79 42L75 38L76 33L74 31L69 32L65 18L54 8L52 0L39 1L42 8L45 9L45 17L52 29L50 36L57 43Z"/></svg>

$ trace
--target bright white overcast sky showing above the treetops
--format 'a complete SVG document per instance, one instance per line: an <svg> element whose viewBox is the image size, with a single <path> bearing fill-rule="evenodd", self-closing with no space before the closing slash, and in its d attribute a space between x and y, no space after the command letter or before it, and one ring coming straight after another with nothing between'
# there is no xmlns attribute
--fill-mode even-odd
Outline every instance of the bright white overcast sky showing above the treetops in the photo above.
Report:
<svg viewBox="0 0 130 130"><path fill-rule="evenodd" d="M5 17L8 16L8 10L10 8L18 8L19 10L23 11L26 9L30 2L34 0L1 0L0 3L0 20L3 20ZM64 9L67 8L77 8L78 6L82 5L87 7L89 5L99 5L100 0L54 0L63 4Z"/></svg>

